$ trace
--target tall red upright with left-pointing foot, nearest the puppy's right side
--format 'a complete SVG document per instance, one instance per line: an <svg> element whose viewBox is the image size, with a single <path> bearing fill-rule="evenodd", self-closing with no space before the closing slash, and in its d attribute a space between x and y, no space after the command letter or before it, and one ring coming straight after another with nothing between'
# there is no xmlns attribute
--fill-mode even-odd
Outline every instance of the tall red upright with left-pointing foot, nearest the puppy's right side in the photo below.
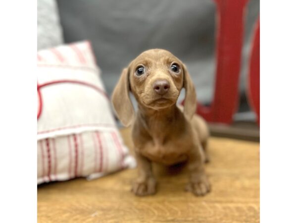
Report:
<svg viewBox="0 0 297 223"><path fill-rule="evenodd" d="M197 113L209 122L231 123L237 111L239 74L247 0L215 0L217 4L216 78L210 107Z"/></svg>

